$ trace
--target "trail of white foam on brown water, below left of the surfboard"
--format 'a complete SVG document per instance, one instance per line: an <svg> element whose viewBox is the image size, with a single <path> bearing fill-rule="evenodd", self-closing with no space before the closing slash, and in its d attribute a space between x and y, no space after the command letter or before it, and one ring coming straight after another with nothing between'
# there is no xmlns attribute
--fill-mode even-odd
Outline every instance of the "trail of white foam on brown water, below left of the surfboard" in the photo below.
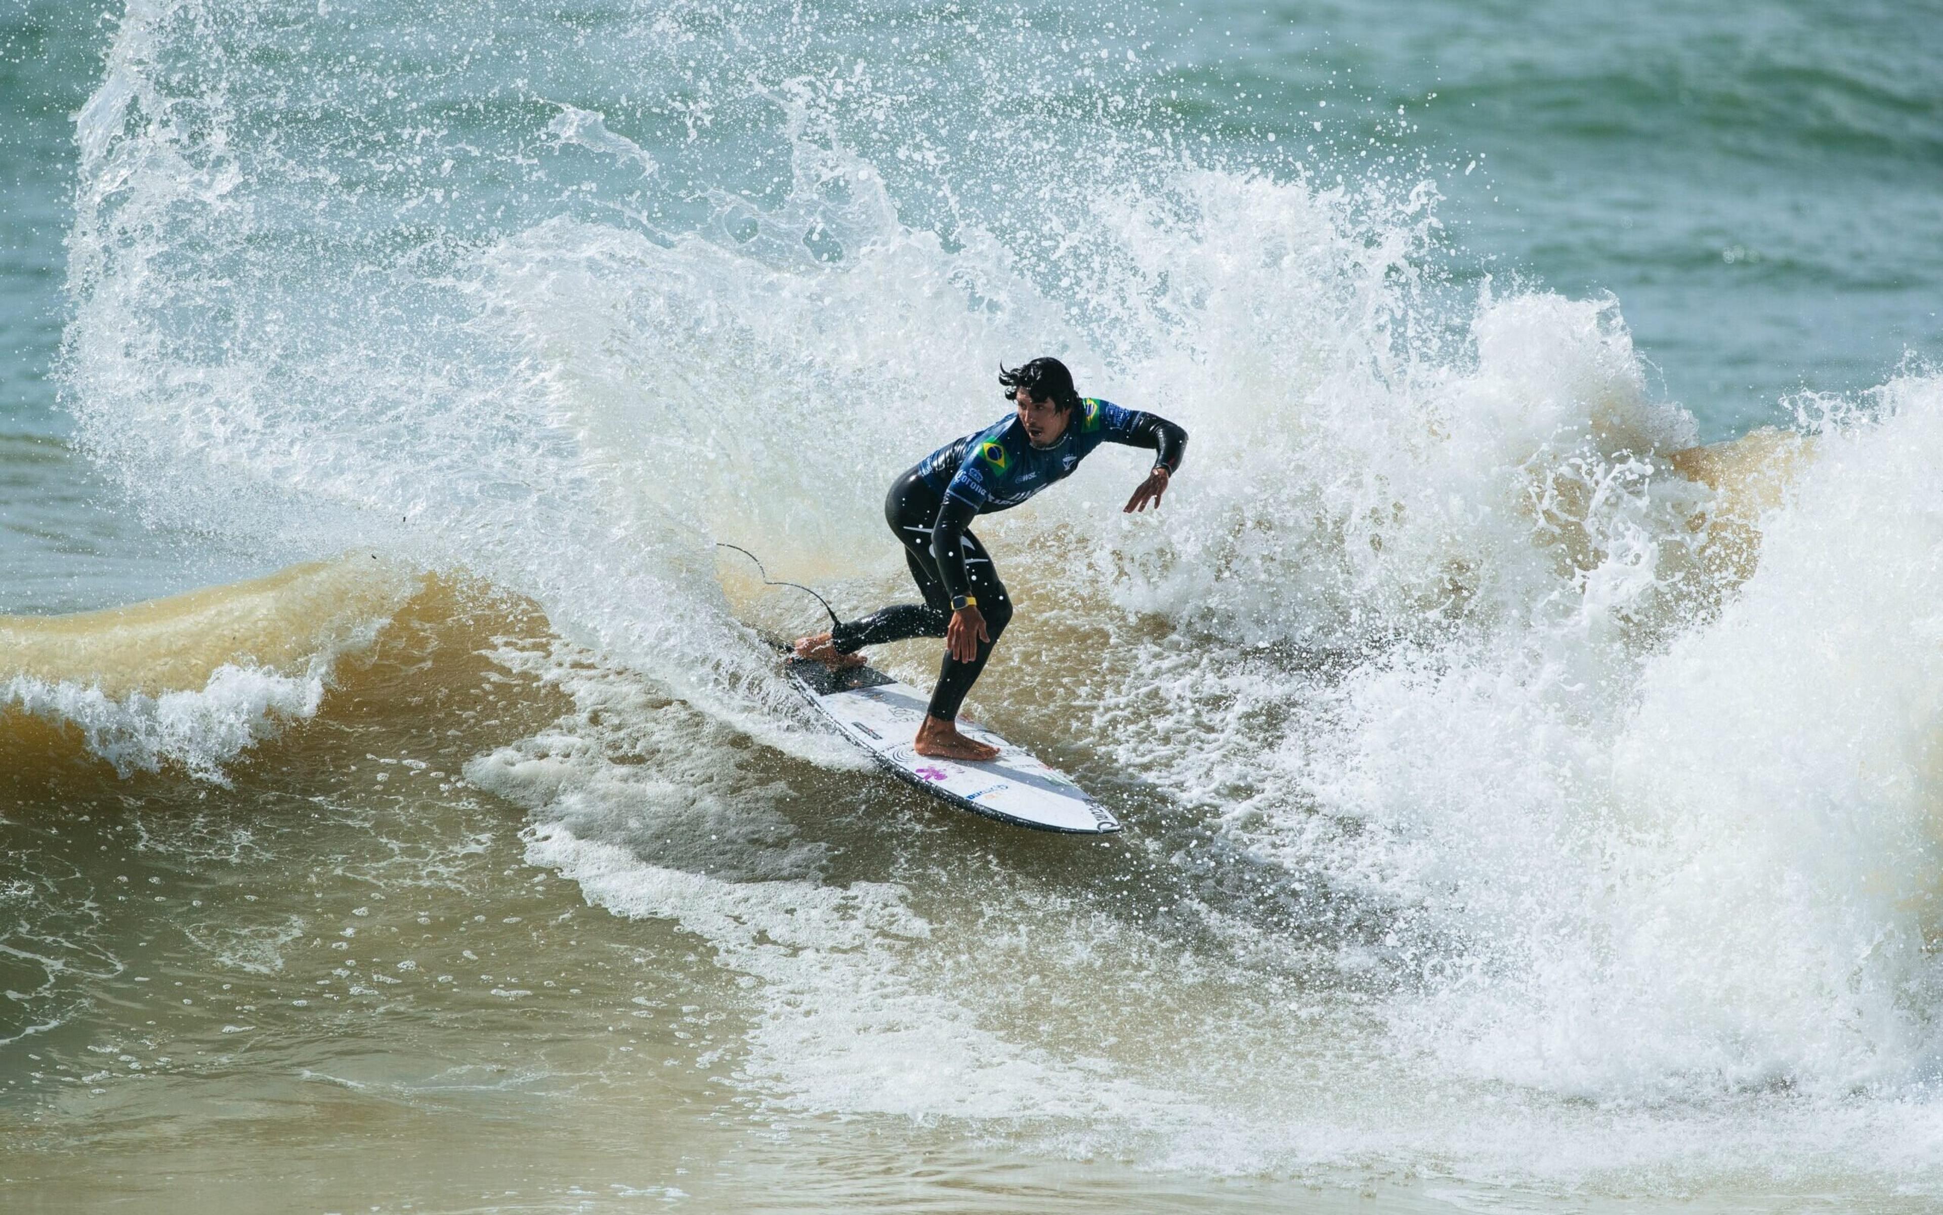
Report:
<svg viewBox="0 0 1943 1215"><path fill-rule="evenodd" d="M587 659L503 651L571 692L575 713L466 776L530 807L530 863L618 916L676 921L760 980L748 1083L791 1108L917 1120L1098 1122L1115 1116L1115 1093L1139 1089L1100 1059L1061 1059L981 1024L975 1003L913 970L931 923L903 885L828 881L826 850L779 809L785 783L727 746L719 723Z"/></svg>

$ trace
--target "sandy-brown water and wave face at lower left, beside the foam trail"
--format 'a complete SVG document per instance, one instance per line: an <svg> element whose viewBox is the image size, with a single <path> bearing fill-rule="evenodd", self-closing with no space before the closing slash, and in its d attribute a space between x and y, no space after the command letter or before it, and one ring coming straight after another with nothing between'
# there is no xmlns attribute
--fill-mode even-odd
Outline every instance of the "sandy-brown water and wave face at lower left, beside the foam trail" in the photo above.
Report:
<svg viewBox="0 0 1943 1215"><path fill-rule="evenodd" d="M315 721L225 783L117 776L74 727L10 719L8 1211L1368 1207L1374 1190L1341 1178L1209 1182L1084 1145L1020 1157L958 1120L777 1100L744 1073L756 980L666 920L591 908L527 861L527 815L459 774L571 708L490 657L542 638L530 605L433 583L340 663ZM826 881L923 881L954 851L1061 883L1131 859L872 778L789 776L791 820L837 853ZM884 830L925 844L886 857ZM736 855L698 855L723 863ZM1016 988L1014 951L995 953L954 962L964 982ZM1032 986L1001 1024L1030 1032ZM1420 1205L1407 1178L1366 1184L1385 1209Z"/></svg>

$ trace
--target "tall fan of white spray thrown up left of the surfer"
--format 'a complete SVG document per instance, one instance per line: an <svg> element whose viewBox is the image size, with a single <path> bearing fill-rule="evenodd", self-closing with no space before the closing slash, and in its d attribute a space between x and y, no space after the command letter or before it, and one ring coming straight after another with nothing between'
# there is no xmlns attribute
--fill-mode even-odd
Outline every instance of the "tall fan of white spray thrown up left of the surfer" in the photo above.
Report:
<svg viewBox="0 0 1943 1215"><path fill-rule="evenodd" d="M907 434L970 416L1003 257L903 229L869 165L810 144L781 212L725 196L707 231L558 216L377 260L290 239L293 198L334 183L249 146L223 91L165 87L179 19L130 12L82 115L62 379L91 455L262 558L356 544L484 575L808 746L709 542L841 550Z"/></svg>

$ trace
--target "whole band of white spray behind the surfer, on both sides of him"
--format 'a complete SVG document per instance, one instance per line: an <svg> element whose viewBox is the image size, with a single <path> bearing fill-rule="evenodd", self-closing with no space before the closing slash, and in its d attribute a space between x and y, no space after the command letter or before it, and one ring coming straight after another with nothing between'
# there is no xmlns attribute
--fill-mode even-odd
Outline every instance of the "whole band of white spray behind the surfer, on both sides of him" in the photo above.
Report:
<svg viewBox="0 0 1943 1215"><path fill-rule="evenodd" d="M130 12L82 115L64 381L95 457L223 542L466 568L801 746L709 542L894 575L882 488L1003 408L993 364L1051 350L1195 434L1164 527L1024 511L1071 540L1034 552L1090 558L1080 577L1026 562L1061 603L1104 572L1123 607L1232 645L1360 651L1589 620L1601 597L1601 620L1630 620L1665 585L1677 533L1648 517L1677 503L1638 457L1690 424L1646 399L1611 303L1453 301L1426 187L1176 159L1049 196L1053 247L973 222L946 245L783 99L777 208L719 196L682 233L563 210L379 257L342 231L291 239L348 187L251 144L245 76L171 93L167 21ZM575 115L589 148L598 115ZM571 134L556 126L530 136ZM653 165L614 132L593 150Z"/></svg>

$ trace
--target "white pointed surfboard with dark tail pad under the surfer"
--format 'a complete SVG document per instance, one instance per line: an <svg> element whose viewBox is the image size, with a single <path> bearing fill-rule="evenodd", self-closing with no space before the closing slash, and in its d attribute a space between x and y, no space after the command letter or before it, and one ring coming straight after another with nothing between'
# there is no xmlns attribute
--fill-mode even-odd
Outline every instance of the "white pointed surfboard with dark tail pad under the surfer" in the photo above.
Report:
<svg viewBox="0 0 1943 1215"><path fill-rule="evenodd" d="M999 758L935 760L911 748L931 698L870 667L832 669L783 657L783 671L802 696L878 762L884 772L958 809L1045 832L1102 836L1119 820L1073 780L989 729L960 719L970 739L999 748Z"/></svg>

